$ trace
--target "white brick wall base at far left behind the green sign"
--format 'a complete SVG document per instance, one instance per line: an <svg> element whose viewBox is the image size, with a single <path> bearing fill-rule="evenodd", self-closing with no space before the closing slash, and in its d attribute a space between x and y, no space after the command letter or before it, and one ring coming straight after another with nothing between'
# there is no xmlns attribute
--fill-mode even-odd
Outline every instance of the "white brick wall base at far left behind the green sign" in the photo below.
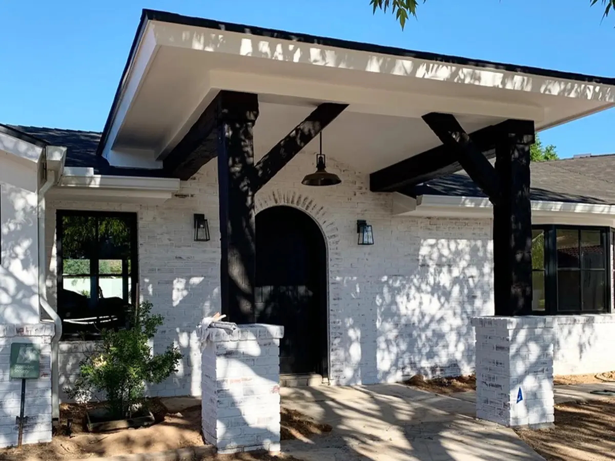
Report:
<svg viewBox="0 0 615 461"><path fill-rule="evenodd" d="M39 379L26 380L23 443L51 441L51 338L52 323L0 325L0 447L17 445L22 380L9 378L10 345L28 342L39 348Z"/></svg>

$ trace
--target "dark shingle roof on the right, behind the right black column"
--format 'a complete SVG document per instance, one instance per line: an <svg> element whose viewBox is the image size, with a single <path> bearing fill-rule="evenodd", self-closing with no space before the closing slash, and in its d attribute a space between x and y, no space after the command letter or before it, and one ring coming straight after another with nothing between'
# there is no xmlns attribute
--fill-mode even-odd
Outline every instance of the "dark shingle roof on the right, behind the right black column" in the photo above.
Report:
<svg viewBox="0 0 615 461"><path fill-rule="evenodd" d="M433 179L411 195L485 197L466 173ZM532 200L615 204L615 154L531 164Z"/></svg>

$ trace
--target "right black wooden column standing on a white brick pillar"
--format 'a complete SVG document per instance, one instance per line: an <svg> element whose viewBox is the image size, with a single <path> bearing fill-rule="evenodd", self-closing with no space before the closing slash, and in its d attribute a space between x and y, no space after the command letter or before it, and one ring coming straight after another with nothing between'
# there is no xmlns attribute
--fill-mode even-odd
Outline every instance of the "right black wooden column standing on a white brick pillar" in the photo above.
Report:
<svg viewBox="0 0 615 461"><path fill-rule="evenodd" d="M534 122L507 120L496 139L500 200L493 207L496 315L531 315L530 146Z"/></svg>

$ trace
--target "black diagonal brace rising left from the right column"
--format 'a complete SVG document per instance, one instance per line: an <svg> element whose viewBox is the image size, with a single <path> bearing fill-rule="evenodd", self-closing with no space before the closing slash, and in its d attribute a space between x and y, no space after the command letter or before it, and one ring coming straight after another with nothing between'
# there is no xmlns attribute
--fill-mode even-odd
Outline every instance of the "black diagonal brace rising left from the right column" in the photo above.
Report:
<svg viewBox="0 0 615 461"><path fill-rule="evenodd" d="M459 164L472 181L485 192L492 203L497 203L501 195L498 174L457 119L451 114L431 112L425 114L423 120L442 144L456 154Z"/></svg>

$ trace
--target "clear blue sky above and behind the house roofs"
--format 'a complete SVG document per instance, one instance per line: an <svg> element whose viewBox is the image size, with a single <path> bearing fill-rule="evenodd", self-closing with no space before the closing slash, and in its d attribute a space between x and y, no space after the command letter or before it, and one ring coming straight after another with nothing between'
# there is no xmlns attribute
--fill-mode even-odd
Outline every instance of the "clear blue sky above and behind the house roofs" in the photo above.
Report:
<svg viewBox="0 0 615 461"><path fill-rule="evenodd" d="M0 122L102 130L142 8L615 76L615 16L589 0L428 0L405 31L368 0L0 0ZM615 109L541 133L560 157L615 152Z"/></svg>

